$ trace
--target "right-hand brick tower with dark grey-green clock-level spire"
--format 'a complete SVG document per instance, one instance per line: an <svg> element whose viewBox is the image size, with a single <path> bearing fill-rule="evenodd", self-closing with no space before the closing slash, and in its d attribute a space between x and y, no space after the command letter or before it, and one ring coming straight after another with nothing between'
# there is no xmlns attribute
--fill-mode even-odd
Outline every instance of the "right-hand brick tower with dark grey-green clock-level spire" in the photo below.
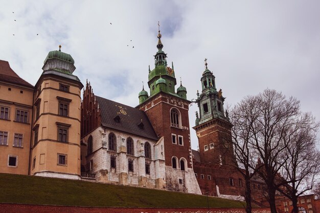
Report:
<svg viewBox="0 0 320 213"><path fill-rule="evenodd" d="M197 93L196 134L199 141L201 162L217 165L232 165L234 152L231 127L227 111L223 111L224 97L222 90L217 91L215 76L208 69L205 59L205 70L201 77L202 92Z"/></svg>

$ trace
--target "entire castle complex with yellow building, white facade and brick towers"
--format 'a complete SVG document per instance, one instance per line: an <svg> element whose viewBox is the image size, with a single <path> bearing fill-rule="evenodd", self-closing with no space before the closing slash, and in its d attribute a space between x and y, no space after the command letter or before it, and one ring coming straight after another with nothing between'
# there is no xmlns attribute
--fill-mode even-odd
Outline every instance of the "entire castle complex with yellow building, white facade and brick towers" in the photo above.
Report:
<svg viewBox="0 0 320 213"><path fill-rule="evenodd" d="M96 96L88 82L84 87L74 75L75 61L60 49L49 52L34 86L0 60L0 172L244 196L215 76L206 63L192 127L199 150L192 150L191 101L186 87L176 88L160 31L157 37L149 89L139 93L136 107ZM262 184L253 180L256 188Z"/></svg>

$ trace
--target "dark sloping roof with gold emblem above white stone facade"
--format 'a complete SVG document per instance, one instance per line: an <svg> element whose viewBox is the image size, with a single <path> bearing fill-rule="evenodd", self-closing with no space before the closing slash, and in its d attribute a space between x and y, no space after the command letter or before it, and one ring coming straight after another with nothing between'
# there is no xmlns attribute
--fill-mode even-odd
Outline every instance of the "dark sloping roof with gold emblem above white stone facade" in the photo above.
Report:
<svg viewBox="0 0 320 213"><path fill-rule="evenodd" d="M157 140L153 127L142 110L95 96L101 110L101 125L119 131ZM117 116L119 122L117 122ZM141 122L142 121L142 122Z"/></svg>

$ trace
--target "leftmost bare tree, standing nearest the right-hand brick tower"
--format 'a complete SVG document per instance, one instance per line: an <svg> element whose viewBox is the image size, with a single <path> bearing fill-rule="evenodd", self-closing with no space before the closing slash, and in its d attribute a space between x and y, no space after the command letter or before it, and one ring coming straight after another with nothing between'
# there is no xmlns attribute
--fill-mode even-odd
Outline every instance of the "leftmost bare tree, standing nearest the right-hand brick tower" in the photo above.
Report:
<svg viewBox="0 0 320 213"><path fill-rule="evenodd" d="M256 98L246 97L230 111L232 127L233 148L236 163L235 168L245 180L245 202L246 212L252 212L251 185L250 180L256 175L256 156L250 146L253 139L254 123L258 119L259 113L256 109Z"/></svg>

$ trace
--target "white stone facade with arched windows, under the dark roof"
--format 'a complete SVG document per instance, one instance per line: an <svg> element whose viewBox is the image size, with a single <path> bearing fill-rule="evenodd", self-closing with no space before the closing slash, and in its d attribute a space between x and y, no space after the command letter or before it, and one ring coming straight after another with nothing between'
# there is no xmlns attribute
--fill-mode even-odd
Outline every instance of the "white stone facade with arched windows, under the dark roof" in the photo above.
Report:
<svg viewBox="0 0 320 213"><path fill-rule="evenodd" d="M116 135L116 151L109 150L108 135ZM96 181L142 186L148 188L165 187L165 151L163 138L158 141L98 127L82 138L87 144L88 138L93 137L92 153L86 158L86 170L95 174ZM133 140L133 155L127 154L127 138ZM151 147L151 159L144 153L144 144ZM111 168L111 156L116 158L116 168ZM129 171L128 162L133 162L133 171ZM146 174L146 163L149 164L150 174Z"/></svg>

